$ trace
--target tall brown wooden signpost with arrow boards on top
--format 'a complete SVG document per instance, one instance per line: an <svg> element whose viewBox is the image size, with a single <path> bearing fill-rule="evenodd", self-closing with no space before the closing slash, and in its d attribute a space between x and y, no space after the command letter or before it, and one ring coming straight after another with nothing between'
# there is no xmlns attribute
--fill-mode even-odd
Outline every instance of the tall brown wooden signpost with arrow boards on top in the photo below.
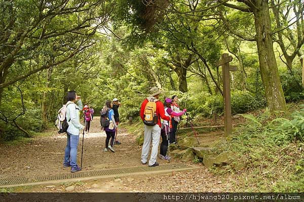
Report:
<svg viewBox="0 0 304 202"><path fill-rule="evenodd" d="M230 71L237 71L238 67L230 65L232 56L227 53L222 54L221 60L216 62L216 66L222 66L223 97L224 97L224 133L225 137L231 134L231 95L230 95Z"/></svg>

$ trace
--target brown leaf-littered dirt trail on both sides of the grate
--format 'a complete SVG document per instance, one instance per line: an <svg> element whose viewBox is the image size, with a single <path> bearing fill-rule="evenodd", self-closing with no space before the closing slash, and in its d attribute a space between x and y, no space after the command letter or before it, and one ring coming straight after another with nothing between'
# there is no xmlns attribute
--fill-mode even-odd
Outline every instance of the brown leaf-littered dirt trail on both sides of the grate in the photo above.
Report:
<svg viewBox="0 0 304 202"><path fill-rule="evenodd" d="M105 146L105 132L100 130L99 118L91 123L90 133L85 134L83 170L102 170L111 168L127 168L141 165L141 146L135 141L135 136L128 135L119 129L118 140L121 145L115 145L116 152L102 151ZM70 173L69 168L63 168L66 136L53 132L52 136L35 138L32 142L7 146L1 145L0 178L28 178ZM78 149L78 164L80 164L82 135ZM161 165L169 164L158 159ZM173 158L172 163L179 163ZM196 165L198 166L198 165ZM40 185L21 187L15 191L86 191L86 192L178 192L178 191L233 191L230 179L219 179L213 176L201 165L201 169L176 172L166 175L131 176L113 179L90 180L82 183L66 183L54 186ZM74 186L74 187L73 187ZM70 187L70 189L67 189Z"/></svg>

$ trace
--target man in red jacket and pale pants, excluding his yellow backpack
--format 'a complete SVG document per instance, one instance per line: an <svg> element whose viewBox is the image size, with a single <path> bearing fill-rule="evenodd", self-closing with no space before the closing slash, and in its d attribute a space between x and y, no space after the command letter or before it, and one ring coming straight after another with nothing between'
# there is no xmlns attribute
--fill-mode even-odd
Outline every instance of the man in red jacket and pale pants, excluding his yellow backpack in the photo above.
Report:
<svg viewBox="0 0 304 202"><path fill-rule="evenodd" d="M149 167L159 166L157 163L157 153L158 153L158 146L160 144L160 136L161 136L161 118L164 120L171 120L171 116L165 115L164 105L159 100L159 96L161 91L157 87L153 87L150 89L150 96L147 97L141 104L140 108L140 117L144 120L145 117L145 107L148 102L155 102L156 103L156 115L158 117L157 124L153 126L144 125L144 137L143 137L143 145L141 150L141 163L146 164L148 159L148 154L150 150L150 143L152 140L152 151L149 160Z"/></svg>

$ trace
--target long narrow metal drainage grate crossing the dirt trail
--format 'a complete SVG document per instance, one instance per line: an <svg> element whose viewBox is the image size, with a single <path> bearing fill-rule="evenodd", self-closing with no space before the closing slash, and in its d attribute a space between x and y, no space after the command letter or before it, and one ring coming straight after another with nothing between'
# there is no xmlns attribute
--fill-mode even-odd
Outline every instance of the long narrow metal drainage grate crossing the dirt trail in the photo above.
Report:
<svg viewBox="0 0 304 202"><path fill-rule="evenodd" d="M122 169L109 169L109 170L97 170L97 171L83 171L79 173L63 174L56 176L36 177L36 178L8 178L0 179L0 186L12 185L12 184L25 184L35 182L46 182L53 180L65 180L75 178L86 178L94 176L107 176L107 175L119 175L129 173L151 172L151 171L164 171L164 170L178 170L178 169L191 169L193 167L184 164L167 164L158 167L133 167Z"/></svg>

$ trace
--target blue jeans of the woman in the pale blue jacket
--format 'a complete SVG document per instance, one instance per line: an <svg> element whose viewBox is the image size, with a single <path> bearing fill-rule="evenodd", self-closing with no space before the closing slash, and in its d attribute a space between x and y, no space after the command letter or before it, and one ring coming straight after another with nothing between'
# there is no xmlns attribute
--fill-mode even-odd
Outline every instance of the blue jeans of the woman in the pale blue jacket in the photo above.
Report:
<svg viewBox="0 0 304 202"><path fill-rule="evenodd" d="M64 164L70 164L71 168L77 166L77 146L79 135L67 134L67 143L64 151Z"/></svg>

